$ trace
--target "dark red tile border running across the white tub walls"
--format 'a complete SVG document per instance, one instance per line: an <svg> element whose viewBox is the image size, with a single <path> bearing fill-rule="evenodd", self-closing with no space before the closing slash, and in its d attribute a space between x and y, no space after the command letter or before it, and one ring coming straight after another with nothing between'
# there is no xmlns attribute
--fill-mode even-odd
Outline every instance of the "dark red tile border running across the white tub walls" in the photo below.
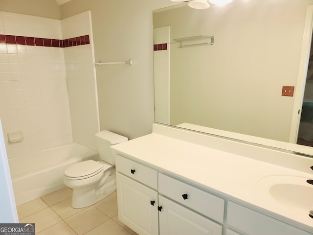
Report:
<svg viewBox="0 0 313 235"><path fill-rule="evenodd" d="M90 39L89 35L62 40L0 34L0 44L17 44L37 47L75 47L90 44Z"/></svg>

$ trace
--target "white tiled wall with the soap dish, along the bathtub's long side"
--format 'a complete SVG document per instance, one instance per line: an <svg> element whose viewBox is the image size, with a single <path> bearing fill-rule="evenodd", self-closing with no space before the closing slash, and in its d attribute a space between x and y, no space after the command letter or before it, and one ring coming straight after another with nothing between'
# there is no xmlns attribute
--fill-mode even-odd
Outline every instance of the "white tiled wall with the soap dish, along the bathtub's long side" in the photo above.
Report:
<svg viewBox="0 0 313 235"><path fill-rule="evenodd" d="M21 36L62 38L59 20L3 12L0 16L6 34L24 30ZM0 115L8 157L72 141L62 63L63 48L0 45ZM24 140L8 144L6 133L20 129Z"/></svg>

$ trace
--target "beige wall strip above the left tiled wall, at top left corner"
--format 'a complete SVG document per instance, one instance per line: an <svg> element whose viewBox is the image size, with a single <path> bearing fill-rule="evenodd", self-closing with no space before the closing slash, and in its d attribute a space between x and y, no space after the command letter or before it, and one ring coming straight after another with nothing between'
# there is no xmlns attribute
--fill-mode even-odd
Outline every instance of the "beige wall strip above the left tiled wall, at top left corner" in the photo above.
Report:
<svg viewBox="0 0 313 235"><path fill-rule="evenodd" d="M61 19L60 7L55 0L0 0L0 11Z"/></svg>

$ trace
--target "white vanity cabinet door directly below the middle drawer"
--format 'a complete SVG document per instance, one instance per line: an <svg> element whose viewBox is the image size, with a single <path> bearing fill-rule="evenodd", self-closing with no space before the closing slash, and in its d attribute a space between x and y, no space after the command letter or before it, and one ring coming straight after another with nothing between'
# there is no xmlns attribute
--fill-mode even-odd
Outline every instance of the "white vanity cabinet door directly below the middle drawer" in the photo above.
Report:
<svg viewBox="0 0 313 235"><path fill-rule="evenodd" d="M160 196L159 235L222 235L222 226Z"/></svg>

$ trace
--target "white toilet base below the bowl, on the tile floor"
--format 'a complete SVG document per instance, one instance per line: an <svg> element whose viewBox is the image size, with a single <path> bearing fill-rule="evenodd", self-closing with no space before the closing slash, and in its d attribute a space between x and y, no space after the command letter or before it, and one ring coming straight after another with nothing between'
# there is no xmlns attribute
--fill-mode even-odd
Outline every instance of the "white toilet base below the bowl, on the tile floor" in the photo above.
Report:
<svg viewBox="0 0 313 235"><path fill-rule="evenodd" d="M96 188L95 186L90 186L86 188L73 188L71 207L89 207L112 194L112 192L116 190L115 174L110 177L112 178L109 178L110 180L108 179L109 182L106 182L100 188Z"/></svg>

